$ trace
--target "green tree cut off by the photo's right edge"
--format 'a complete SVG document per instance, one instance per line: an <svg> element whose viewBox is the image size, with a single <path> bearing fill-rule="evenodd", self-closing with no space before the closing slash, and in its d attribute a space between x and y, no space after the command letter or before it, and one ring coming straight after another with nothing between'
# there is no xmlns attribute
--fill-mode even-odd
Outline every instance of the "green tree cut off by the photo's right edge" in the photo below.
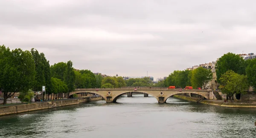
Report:
<svg viewBox="0 0 256 138"><path fill-rule="evenodd" d="M246 68L246 75L250 86L256 90L256 59L247 60L248 66Z"/></svg>

